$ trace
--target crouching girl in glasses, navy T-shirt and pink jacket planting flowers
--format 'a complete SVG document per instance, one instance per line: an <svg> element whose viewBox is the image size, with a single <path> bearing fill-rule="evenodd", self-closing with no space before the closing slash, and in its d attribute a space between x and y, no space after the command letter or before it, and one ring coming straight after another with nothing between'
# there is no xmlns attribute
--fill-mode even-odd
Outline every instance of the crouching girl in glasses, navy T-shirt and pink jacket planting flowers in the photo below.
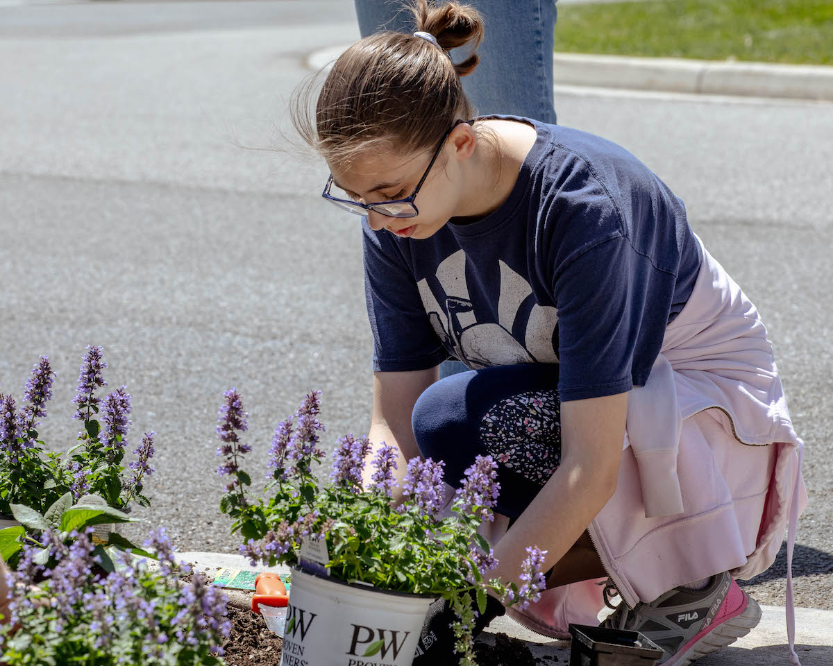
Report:
<svg viewBox="0 0 833 666"><path fill-rule="evenodd" d="M521 624L566 637L616 592L606 624L688 664L761 619L735 579L772 564L787 519L791 558L806 503L766 329L636 157L475 116L476 53L447 53L479 42L471 7L414 12L417 32L354 44L314 119L296 116L332 171L323 196L362 216L371 439L398 446L400 476L416 455L446 480L496 460L510 526L490 577L517 581L529 544L552 568L541 601L510 609ZM471 370L438 380L450 356ZM448 612L416 663L451 658ZM504 612L490 598L477 629Z"/></svg>

